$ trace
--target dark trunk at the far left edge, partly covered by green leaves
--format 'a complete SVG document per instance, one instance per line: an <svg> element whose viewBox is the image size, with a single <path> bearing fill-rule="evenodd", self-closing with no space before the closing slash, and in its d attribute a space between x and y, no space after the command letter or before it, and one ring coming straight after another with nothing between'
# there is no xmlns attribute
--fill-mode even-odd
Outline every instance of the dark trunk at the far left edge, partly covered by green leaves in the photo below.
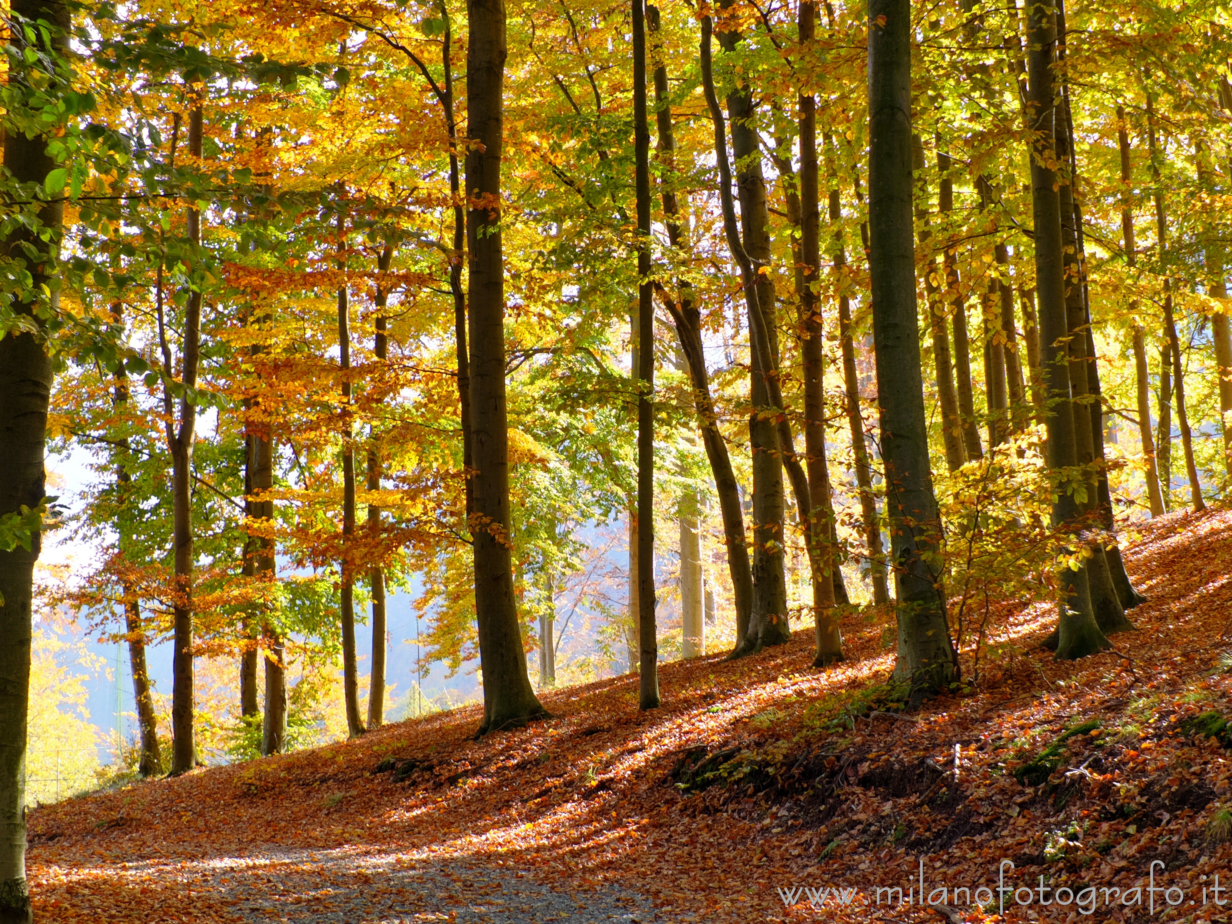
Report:
<svg viewBox="0 0 1232 924"><path fill-rule="evenodd" d="M34 42L27 46L26 31L14 22L18 16L26 21L46 21L53 28L48 32L34 30ZM63 63L68 27L67 5L44 0L12 1L7 48L10 92L31 84L37 86L43 79L39 58L31 62L26 52L49 55L58 65ZM9 118L5 122L9 123ZM15 182L41 187L55 168L55 160L47 152L54 127L49 126L47 134L33 137L9 124L6 129L5 170ZM39 325L37 301L46 291L43 287L54 282L64 203L43 203L37 219L46 229L46 239L27 224L14 224L0 246L7 259L30 272L30 287L10 296L9 309ZM51 296L52 309L58 308L55 298ZM52 361L41 339L31 333L0 335L0 440L4 445L0 452L0 517L20 515L23 506L33 510L47 494L43 441L51 392ZM26 740L33 575L41 545L41 535L34 530L28 548L0 549L0 638L4 639L0 644L0 924L32 920L26 887Z"/></svg>

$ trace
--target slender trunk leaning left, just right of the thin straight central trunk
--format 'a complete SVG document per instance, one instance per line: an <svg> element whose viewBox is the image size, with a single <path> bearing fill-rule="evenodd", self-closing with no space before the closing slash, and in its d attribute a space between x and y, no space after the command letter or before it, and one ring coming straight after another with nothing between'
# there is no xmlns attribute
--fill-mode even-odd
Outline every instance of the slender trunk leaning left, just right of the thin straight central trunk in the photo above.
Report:
<svg viewBox="0 0 1232 924"><path fill-rule="evenodd" d="M650 34L658 34L659 10L647 6L647 22ZM668 69L655 59L654 68L655 120L659 134L659 158L663 161L663 216L668 229L668 243L674 249L684 244L678 216L679 202L674 188L675 171L675 132L671 124L670 100L668 99ZM715 493L718 495L718 508L723 519L723 542L727 546L727 564L732 577L732 590L736 604L737 638L743 638L749 628L749 614L753 610L753 572L749 564L749 549L744 536L744 513L740 509L740 489L732 471L732 461L727 452L727 441L718 430L718 415L710 391L710 376L706 372L706 357L702 351L701 312L694 304L692 288L687 283L678 285L678 301L664 299L676 334L680 349L685 356L694 387L694 407L697 411L697 425L701 429L702 445L710 468L715 476Z"/></svg>

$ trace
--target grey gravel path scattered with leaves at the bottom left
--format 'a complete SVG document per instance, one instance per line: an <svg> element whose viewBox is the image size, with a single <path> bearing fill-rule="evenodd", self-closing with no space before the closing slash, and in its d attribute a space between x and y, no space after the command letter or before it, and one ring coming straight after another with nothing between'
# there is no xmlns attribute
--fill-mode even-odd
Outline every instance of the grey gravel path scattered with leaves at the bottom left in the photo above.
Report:
<svg viewBox="0 0 1232 924"><path fill-rule="evenodd" d="M128 865L138 872L144 864ZM153 864L160 866L160 864ZM149 869L149 872L155 870ZM288 924L652 924L644 896L611 887L570 892L508 866L388 854L372 848L255 849L158 871L225 902L245 922Z"/></svg>

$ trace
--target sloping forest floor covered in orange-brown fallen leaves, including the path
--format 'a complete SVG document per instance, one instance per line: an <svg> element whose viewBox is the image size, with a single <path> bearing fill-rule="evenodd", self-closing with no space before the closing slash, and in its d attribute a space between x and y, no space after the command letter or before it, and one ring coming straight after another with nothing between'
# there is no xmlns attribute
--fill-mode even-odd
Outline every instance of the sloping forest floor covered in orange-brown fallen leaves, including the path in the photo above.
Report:
<svg viewBox="0 0 1232 924"><path fill-rule="evenodd" d="M621 676L482 740L471 707L39 807L37 919L1228 920L1232 733L1191 719L1232 713L1232 513L1140 532L1115 652L1056 663L1050 609L1010 607L978 683L910 716L854 616L827 671L802 630L663 665L650 712Z"/></svg>

